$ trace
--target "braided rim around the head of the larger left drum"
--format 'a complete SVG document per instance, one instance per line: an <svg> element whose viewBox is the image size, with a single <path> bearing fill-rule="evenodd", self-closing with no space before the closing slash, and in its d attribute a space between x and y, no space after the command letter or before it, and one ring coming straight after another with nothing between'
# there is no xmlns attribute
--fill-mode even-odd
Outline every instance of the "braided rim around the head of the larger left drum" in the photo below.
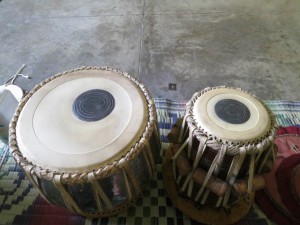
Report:
<svg viewBox="0 0 300 225"><path fill-rule="evenodd" d="M78 71L88 71L88 70L102 70L102 71L110 71L110 72L115 72L127 79L129 79L134 85L136 85L142 92L142 94L145 97L147 106L148 106L148 122L146 124L145 130L142 134L142 137L139 141L135 143L134 146L132 146L126 153L123 155L123 158L120 158L118 160L115 160L111 164L107 164L104 167L100 168L95 168L91 171L85 171L85 172L76 172L76 173L60 173L57 171L52 171L50 169L45 169L42 168L36 164L33 164L30 162L26 157L22 155L20 152L20 149L18 147L17 139L16 139L16 125L18 123L18 118L19 115L25 106L26 102L31 98L32 95L34 95L40 88L42 88L44 85L47 83L51 82L54 79L57 79L62 76L71 76L72 73L78 72ZM9 125L9 148L12 156L14 159L17 161L17 163L22 167L22 168L27 168L29 171L31 171L31 175L35 175L39 178L44 178L47 180L52 180L55 175L61 175L61 182L62 183L83 183L88 181L88 174L90 172L94 173L96 178L102 178L109 176L113 174L115 171L121 169L123 167L124 163L127 163L134 157L136 157L137 154L141 152L143 149L143 142L141 141L142 138L144 139L149 139L153 133L154 130L157 130L157 115L156 115L156 108L154 101L151 98L150 93L147 91L146 87L138 81L136 78L134 78L132 75L130 75L127 72L122 72L116 69L112 69L109 67L92 67L92 66L83 66L77 69L69 70L63 73L58 73L40 84L36 85L32 91L30 91L24 98L21 100L19 103L16 112L10 122Z"/></svg>

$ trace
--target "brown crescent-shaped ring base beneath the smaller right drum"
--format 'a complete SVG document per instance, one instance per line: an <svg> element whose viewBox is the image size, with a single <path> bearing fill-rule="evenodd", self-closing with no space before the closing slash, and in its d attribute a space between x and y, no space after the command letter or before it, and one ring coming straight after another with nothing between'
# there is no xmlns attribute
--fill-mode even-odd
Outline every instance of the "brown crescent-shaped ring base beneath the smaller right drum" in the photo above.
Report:
<svg viewBox="0 0 300 225"><path fill-rule="evenodd" d="M172 146L172 144L169 145L164 157L163 181L167 194L176 208L197 222L214 225L232 224L247 215L254 200L254 192L232 205L231 212L228 212L225 208L211 206L197 208L193 200L180 196L180 189L172 172Z"/></svg>

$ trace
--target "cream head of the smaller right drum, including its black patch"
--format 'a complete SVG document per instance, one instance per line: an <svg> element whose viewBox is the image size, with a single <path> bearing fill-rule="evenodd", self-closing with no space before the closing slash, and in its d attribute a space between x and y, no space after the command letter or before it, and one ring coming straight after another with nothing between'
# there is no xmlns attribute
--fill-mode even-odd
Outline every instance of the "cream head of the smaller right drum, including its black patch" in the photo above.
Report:
<svg viewBox="0 0 300 225"><path fill-rule="evenodd" d="M222 142L248 143L270 129L269 112L260 100L240 89L219 87L200 95L193 105L197 127Z"/></svg>

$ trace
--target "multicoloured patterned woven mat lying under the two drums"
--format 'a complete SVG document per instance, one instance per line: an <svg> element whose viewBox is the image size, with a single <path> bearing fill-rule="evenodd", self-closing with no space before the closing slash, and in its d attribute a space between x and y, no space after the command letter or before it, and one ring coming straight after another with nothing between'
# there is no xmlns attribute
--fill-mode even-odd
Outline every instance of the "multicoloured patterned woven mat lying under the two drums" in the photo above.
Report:
<svg viewBox="0 0 300 225"><path fill-rule="evenodd" d="M167 149L167 134L177 118L184 115L184 101L154 99L163 151ZM300 125L300 102L269 101L267 105L276 115L281 126ZM199 224L178 211L166 192L162 182L162 165L157 165L157 172L150 182L149 189L143 192L134 206L117 216L102 219L86 219L66 209L45 202L25 178L21 168L7 151L7 146L0 143L0 224L20 225L106 225L106 224ZM248 215L235 225L275 224L263 214L256 204Z"/></svg>

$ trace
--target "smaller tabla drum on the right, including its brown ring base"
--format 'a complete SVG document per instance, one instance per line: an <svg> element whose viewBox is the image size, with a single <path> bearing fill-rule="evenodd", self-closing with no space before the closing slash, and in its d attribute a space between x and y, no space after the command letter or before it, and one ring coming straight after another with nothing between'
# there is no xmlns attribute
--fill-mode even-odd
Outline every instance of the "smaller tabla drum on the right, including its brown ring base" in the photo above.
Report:
<svg viewBox="0 0 300 225"><path fill-rule="evenodd" d="M275 132L272 112L248 92L195 93L168 135L163 179L174 205L198 222L241 219L273 166Z"/></svg>

